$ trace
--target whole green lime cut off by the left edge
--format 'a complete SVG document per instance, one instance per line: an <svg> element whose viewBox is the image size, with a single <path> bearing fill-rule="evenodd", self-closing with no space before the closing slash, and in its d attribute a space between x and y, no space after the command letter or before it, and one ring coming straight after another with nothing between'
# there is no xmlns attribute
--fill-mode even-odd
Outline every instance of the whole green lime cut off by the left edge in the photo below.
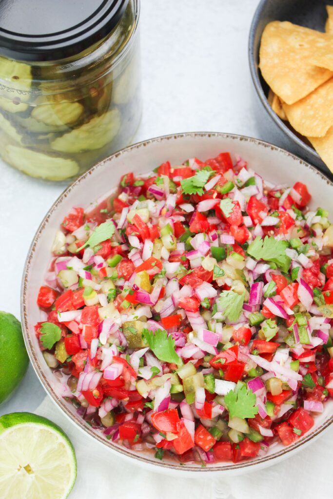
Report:
<svg viewBox="0 0 333 499"><path fill-rule="evenodd" d="M20 322L0 311L0 404L13 393L28 367Z"/></svg>

